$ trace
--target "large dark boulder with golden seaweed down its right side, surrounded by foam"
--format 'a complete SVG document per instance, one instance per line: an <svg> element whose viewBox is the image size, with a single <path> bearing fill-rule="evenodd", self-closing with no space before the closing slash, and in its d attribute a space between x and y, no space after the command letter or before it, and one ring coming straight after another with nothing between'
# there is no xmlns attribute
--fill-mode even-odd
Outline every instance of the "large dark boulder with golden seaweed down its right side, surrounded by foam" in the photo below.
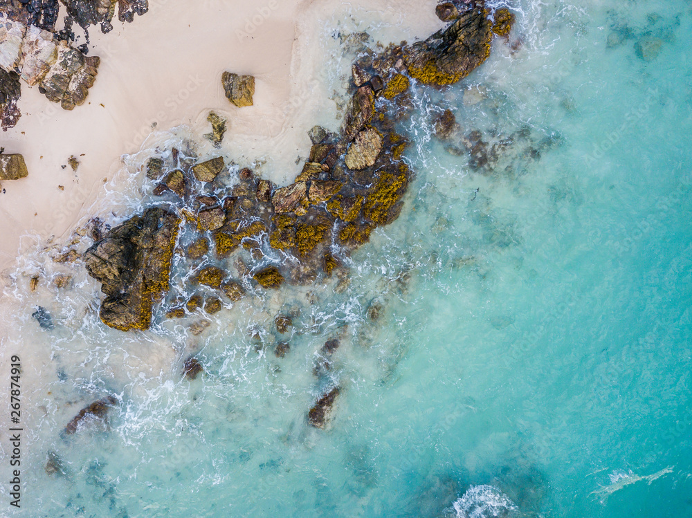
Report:
<svg viewBox="0 0 692 518"><path fill-rule="evenodd" d="M120 331L146 330L152 306L167 293L181 220L161 207L147 209L86 250L89 275L107 295L100 317Z"/></svg>

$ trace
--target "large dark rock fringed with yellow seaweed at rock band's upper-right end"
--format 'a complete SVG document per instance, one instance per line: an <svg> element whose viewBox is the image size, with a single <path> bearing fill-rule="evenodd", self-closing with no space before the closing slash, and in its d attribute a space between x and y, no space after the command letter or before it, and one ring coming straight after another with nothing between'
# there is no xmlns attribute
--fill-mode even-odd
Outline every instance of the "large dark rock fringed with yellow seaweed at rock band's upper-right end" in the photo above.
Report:
<svg viewBox="0 0 692 518"><path fill-rule="evenodd" d="M464 79L490 55L492 29L485 8L462 12L448 28L403 49L408 73L435 86Z"/></svg>

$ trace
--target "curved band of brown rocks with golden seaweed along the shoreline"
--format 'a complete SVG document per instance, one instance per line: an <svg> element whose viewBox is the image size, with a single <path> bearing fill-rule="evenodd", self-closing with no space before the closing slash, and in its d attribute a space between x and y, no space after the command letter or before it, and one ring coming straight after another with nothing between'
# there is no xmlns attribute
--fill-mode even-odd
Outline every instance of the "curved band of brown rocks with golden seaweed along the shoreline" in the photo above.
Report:
<svg viewBox="0 0 692 518"><path fill-rule="evenodd" d="M101 309L104 322L122 330L147 329L153 302L167 290L177 235L172 229L183 220L185 243L179 248L186 255L188 278L233 302L248 286L272 289L329 277L375 228L397 219L412 172L403 160L408 142L394 125L412 109L412 80L435 86L456 82L489 52L489 12L465 3L456 9L450 26L428 40L390 46L379 54L369 51L354 64L351 99L339 133L311 129L309 158L291 185L278 187L256 178L250 169L238 171L220 156L199 160L192 148L186 154L162 150L149 160L153 193L168 209L149 209L86 252L87 268L104 283L107 294ZM452 17L450 12L445 16ZM430 70L432 75L421 73ZM223 81L232 102L252 103L251 76L224 73ZM441 120L443 133L453 130L449 115ZM219 120L210 122L220 131ZM154 210L157 219L167 222L158 232L146 223ZM165 260L159 257L160 246L147 245L154 239L165 243ZM154 264L163 268L149 272L147 265ZM241 279L231 278L230 264ZM150 274L156 282L149 281ZM218 303L203 302L201 296L197 302L175 298L167 302L165 314L182 317L201 307L212 313L221 306L214 298ZM320 405L317 408L314 421L320 423Z"/></svg>

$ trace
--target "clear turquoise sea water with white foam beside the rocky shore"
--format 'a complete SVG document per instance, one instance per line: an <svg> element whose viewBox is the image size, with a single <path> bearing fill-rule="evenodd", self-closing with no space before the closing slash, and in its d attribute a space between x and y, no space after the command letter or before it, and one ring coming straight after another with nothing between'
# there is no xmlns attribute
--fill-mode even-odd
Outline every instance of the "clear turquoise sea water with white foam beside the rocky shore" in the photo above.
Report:
<svg viewBox="0 0 692 518"><path fill-rule="evenodd" d="M510 5L515 52L496 40L461 87L417 89L406 208L354 254L343 293L258 294L202 337L122 335L83 271L28 295L24 273L66 267L22 259L4 341L34 380L15 515L692 515L692 6ZM651 61L646 35L662 41ZM440 104L486 140L520 136L474 170L430 138ZM141 181L109 203L140 203ZM283 359L280 311L295 315ZM192 351L208 373L181 381ZM312 429L335 383L331 428ZM61 436L107 391L122 401L109 431ZM48 450L68 477L44 472Z"/></svg>

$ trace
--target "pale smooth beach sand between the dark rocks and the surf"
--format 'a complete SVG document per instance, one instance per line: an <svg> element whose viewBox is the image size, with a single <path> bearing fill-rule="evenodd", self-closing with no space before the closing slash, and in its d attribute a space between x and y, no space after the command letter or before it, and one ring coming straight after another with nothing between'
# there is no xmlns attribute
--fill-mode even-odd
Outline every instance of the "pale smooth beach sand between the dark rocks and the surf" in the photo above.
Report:
<svg viewBox="0 0 692 518"><path fill-rule="evenodd" d="M22 117L1 137L6 153L24 155L29 176L6 181L0 194L0 288L19 254L51 237L66 239L89 216L122 157L152 145L152 131L161 135L179 124L210 131L206 116L217 111L228 118L224 151L248 165L266 160L260 174L289 183L302 167L296 160L309 151L307 131L314 124L338 129L330 84L337 72L347 81L348 63L320 44L325 31L367 30L384 43L419 39L441 27L434 6L435 0L153 0L131 24L114 23L107 35L93 28L91 54L102 64L87 102L64 111L22 84ZM358 26L363 19L371 23ZM224 71L255 75L255 106L238 109L226 100ZM72 155L80 161L76 172L68 165Z"/></svg>

